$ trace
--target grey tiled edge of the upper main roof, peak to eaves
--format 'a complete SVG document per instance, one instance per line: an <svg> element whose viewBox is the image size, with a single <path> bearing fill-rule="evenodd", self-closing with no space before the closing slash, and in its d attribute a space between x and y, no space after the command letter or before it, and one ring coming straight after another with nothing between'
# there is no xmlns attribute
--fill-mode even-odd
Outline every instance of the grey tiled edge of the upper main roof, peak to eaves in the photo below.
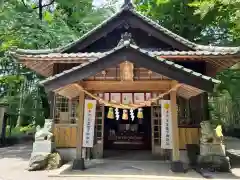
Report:
<svg viewBox="0 0 240 180"><path fill-rule="evenodd" d="M69 49L70 47L72 47L75 44L77 44L77 43L81 42L82 40L84 40L86 37L92 35L96 30L102 28L104 25L106 25L107 23L112 21L114 18L118 17L124 11L129 11L129 12L133 13L134 15L136 15L139 18L141 18L143 21L145 21L148 24L150 24L151 26L155 27L156 29L158 29L162 33L166 34L167 36L172 37L176 41L184 44L185 46L189 47L192 50L195 50L195 51L206 51L206 52L218 52L218 53L219 52L226 52L226 53L233 53L233 54L240 53L240 46L239 47L219 47L219 46L211 46L211 45L208 45L208 46L207 45L200 45L200 44L196 44L194 42L191 42L191 41L189 41L189 40L187 40L187 39L177 35L176 33L173 33L172 31L164 28L163 26L159 25L157 22L155 22L155 21L151 20L150 18L142 15L141 13L137 12L133 8L129 8L128 6L123 7L120 11L116 12L114 15L112 15L111 17L109 17L108 19L106 19L105 21L100 23L99 25L97 25L91 31L88 31L86 34L84 34L79 39L77 39L74 42L71 42L71 43L69 43L69 44L67 44L65 46L62 46L62 47L59 47L59 48L55 48L55 49L44 49L44 50L16 49L16 50L13 50L13 51L15 51L18 54L49 54L49 53L61 53L61 52L64 52L65 50Z"/></svg>

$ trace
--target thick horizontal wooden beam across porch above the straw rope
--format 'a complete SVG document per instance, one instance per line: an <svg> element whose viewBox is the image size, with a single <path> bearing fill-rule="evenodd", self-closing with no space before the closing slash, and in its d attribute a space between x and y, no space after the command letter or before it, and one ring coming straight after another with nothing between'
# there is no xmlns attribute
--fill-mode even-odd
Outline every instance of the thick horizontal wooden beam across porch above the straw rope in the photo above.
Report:
<svg viewBox="0 0 240 180"><path fill-rule="evenodd" d="M87 91L166 91L171 88L170 80L151 81L82 81L80 85Z"/></svg>

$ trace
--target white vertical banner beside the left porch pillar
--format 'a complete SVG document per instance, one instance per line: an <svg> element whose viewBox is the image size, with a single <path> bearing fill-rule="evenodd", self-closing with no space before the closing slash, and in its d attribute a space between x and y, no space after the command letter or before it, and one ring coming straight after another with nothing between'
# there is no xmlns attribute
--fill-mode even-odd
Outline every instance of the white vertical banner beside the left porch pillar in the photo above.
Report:
<svg viewBox="0 0 240 180"><path fill-rule="evenodd" d="M93 147L94 126L96 118L96 100L85 100L83 147Z"/></svg>

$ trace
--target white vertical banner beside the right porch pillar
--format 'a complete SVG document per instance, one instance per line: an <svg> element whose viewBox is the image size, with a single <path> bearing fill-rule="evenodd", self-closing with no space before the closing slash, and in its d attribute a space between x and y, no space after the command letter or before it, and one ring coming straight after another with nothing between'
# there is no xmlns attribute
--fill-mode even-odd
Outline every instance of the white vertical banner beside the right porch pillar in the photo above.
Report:
<svg viewBox="0 0 240 180"><path fill-rule="evenodd" d="M162 149L172 149L172 114L170 100L161 101L161 111L162 111L162 129L161 129L161 148Z"/></svg>

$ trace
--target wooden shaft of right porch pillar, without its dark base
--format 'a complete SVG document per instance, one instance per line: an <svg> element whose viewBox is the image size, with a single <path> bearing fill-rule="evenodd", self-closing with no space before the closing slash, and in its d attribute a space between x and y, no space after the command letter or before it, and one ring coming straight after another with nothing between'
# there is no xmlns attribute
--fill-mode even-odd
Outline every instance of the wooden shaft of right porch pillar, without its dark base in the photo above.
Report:
<svg viewBox="0 0 240 180"><path fill-rule="evenodd" d="M172 87L176 85L176 81L173 81ZM180 160L179 153L179 129L178 129L178 115L177 115L177 92L170 92L171 101L171 114L172 114L172 135L173 135L173 150L172 150L172 161Z"/></svg>

